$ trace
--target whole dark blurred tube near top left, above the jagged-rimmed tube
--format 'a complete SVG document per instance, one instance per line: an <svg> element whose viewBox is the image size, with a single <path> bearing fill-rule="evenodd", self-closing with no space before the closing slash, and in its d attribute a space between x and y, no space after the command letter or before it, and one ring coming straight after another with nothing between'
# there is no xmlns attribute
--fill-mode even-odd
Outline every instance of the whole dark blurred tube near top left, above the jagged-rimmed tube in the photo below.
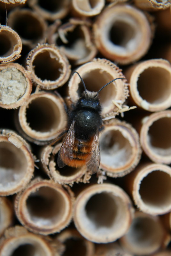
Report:
<svg viewBox="0 0 171 256"><path fill-rule="evenodd" d="M8 15L8 26L19 34L22 44L31 49L44 42L47 24L40 15L31 10L12 10Z"/></svg>

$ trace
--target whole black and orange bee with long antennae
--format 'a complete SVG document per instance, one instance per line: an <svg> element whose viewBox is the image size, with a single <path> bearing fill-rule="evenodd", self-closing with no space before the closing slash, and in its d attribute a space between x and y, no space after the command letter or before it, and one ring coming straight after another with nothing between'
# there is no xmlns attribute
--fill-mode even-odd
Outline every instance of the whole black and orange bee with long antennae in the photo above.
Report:
<svg viewBox="0 0 171 256"><path fill-rule="evenodd" d="M58 167L68 165L77 168L86 164L93 174L100 165L99 132L103 130L102 106L98 95L105 86L124 77L113 79L98 92L90 92L79 73L74 73L80 77L84 92L68 113L68 131L67 134L65 132L65 139L58 153Z"/></svg>

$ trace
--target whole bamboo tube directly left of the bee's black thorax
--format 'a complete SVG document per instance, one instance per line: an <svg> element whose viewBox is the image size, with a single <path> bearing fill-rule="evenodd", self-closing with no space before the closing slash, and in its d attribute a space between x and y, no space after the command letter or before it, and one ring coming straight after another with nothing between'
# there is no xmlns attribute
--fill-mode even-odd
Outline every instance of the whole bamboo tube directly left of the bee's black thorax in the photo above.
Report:
<svg viewBox="0 0 171 256"><path fill-rule="evenodd" d="M16 112L16 127L29 141L38 145L58 137L66 126L66 110L62 97L50 92L31 94Z"/></svg>

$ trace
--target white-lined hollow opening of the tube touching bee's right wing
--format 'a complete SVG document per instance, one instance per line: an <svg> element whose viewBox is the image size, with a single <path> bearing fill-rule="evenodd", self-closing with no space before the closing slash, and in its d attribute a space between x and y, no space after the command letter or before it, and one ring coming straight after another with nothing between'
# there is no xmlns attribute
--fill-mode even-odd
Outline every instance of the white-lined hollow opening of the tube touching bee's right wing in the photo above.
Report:
<svg viewBox="0 0 171 256"><path fill-rule="evenodd" d="M103 164L118 168L128 163L132 148L120 131L110 130L100 136L100 153Z"/></svg>

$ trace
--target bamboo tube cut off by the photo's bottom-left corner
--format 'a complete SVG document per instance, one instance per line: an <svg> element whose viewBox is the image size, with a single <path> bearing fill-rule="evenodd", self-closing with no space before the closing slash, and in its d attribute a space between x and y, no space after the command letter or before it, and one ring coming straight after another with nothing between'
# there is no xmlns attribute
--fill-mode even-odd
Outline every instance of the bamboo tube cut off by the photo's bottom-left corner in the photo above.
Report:
<svg viewBox="0 0 171 256"><path fill-rule="evenodd" d="M5 231L0 244L0 256L59 256L46 237L35 235L27 229L15 226Z"/></svg>

